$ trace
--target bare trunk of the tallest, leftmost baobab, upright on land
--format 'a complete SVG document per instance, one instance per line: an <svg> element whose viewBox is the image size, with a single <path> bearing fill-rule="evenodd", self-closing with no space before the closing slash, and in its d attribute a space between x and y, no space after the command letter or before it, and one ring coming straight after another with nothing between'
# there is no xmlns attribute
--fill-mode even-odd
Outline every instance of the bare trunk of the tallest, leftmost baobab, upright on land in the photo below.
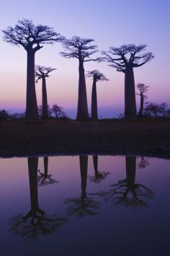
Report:
<svg viewBox="0 0 170 256"><path fill-rule="evenodd" d="M37 120L37 98L35 92L35 52L27 50L27 102L26 120Z"/></svg>

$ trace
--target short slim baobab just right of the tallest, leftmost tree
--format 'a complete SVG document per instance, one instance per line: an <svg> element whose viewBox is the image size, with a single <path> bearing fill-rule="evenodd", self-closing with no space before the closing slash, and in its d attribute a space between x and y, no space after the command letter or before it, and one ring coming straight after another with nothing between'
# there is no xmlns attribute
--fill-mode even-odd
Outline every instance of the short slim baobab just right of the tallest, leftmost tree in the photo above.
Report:
<svg viewBox="0 0 170 256"><path fill-rule="evenodd" d="M35 66L36 82L42 79L42 119L48 119L48 95L46 88L46 78L49 77L50 72L56 69L45 66Z"/></svg>

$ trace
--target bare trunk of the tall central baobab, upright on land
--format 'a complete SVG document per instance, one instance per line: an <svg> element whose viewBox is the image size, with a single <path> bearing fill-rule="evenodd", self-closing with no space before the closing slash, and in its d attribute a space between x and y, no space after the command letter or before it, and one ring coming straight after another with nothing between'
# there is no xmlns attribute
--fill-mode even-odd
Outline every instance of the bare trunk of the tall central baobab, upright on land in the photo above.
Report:
<svg viewBox="0 0 170 256"><path fill-rule="evenodd" d="M88 107L86 98L86 80L84 75L84 63L79 61L79 95L76 120L86 120L88 118Z"/></svg>

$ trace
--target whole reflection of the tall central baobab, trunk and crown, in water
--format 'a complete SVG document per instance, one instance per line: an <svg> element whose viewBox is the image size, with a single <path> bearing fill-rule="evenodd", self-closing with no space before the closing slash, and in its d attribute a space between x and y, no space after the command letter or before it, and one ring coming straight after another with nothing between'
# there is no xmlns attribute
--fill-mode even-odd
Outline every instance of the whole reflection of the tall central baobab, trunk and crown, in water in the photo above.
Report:
<svg viewBox="0 0 170 256"><path fill-rule="evenodd" d="M92 198L88 198L86 195L88 156L79 156L79 160L81 172L81 197L66 199L65 202L70 205L68 206L68 214L79 217L95 215L97 213L94 209L99 208L99 203Z"/></svg>

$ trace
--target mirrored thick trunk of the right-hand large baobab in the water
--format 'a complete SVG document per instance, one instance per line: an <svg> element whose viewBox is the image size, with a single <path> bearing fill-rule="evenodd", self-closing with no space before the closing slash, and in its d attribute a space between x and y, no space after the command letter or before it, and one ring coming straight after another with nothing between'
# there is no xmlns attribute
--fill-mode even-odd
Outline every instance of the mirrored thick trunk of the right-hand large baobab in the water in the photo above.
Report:
<svg viewBox="0 0 170 256"><path fill-rule="evenodd" d="M136 156L126 156L127 187L135 192L135 164Z"/></svg>

